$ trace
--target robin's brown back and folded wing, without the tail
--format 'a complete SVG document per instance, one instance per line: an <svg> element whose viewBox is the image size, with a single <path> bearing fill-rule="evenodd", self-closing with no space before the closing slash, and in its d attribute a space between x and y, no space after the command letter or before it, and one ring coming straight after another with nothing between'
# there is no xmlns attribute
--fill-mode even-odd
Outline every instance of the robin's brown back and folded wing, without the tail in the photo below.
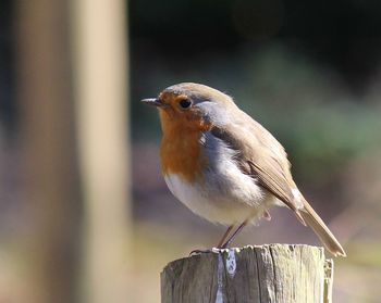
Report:
<svg viewBox="0 0 381 303"><path fill-rule="evenodd" d="M213 127L211 132L237 150L243 173L297 212L292 188L296 188L290 173L290 162L283 147L259 123L239 111L239 119L228 127ZM237 115L235 115L236 117Z"/></svg>

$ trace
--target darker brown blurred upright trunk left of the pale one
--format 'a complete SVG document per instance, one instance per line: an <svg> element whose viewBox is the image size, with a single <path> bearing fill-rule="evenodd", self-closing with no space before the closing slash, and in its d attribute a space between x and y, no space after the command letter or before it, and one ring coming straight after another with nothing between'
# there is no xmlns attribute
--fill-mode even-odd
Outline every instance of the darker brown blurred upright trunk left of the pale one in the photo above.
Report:
<svg viewBox="0 0 381 303"><path fill-rule="evenodd" d="M71 93L67 1L16 1L28 303L76 302L81 200Z"/></svg>

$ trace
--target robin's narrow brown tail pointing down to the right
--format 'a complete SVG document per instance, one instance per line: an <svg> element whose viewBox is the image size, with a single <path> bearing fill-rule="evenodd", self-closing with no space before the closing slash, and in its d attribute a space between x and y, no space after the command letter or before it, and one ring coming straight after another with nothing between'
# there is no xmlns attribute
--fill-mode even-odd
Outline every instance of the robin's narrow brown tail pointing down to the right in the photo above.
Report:
<svg viewBox="0 0 381 303"><path fill-rule="evenodd" d="M312 228L325 249L328 249L334 256L346 256L342 245L306 200L304 200L304 207L299 210L298 213L303 220Z"/></svg>

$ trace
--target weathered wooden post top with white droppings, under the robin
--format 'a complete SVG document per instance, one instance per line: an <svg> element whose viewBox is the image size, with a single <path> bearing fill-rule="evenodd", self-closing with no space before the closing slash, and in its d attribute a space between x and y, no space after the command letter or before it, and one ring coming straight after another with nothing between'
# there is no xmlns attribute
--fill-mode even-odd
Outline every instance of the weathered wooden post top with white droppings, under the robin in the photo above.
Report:
<svg viewBox="0 0 381 303"><path fill-rule="evenodd" d="M331 303L333 262L323 249L269 244L201 253L169 263L161 302Z"/></svg>

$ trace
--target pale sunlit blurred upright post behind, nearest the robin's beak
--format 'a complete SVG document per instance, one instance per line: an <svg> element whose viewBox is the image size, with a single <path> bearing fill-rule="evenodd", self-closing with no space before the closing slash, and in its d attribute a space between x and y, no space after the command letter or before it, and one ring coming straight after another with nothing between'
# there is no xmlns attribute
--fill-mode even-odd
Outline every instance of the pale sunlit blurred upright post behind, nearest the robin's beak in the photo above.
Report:
<svg viewBox="0 0 381 303"><path fill-rule="evenodd" d="M84 189L83 302L127 302L130 162L124 0L72 0Z"/></svg>

